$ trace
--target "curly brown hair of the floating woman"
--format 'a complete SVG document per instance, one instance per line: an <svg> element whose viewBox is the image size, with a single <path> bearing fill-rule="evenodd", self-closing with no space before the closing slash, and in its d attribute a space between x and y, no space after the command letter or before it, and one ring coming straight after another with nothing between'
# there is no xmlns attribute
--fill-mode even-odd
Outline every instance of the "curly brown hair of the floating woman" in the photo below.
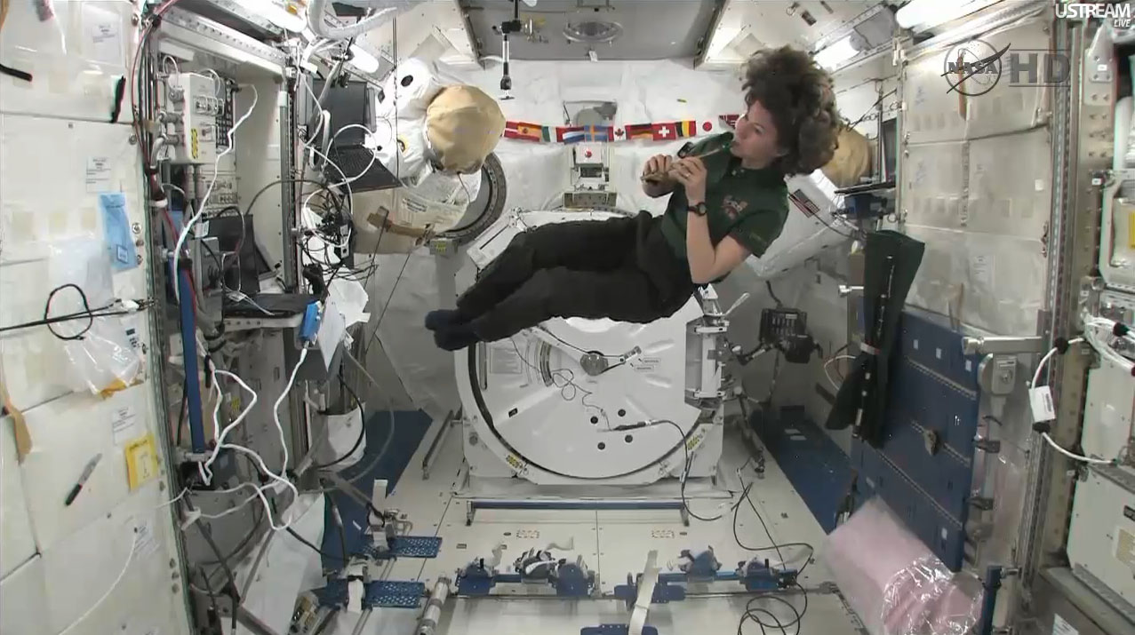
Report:
<svg viewBox="0 0 1135 635"><path fill-rule="evenodd" d="M839 146L840 113L831 76L805 51L791 46L757 51L745 65L745 103L759 101L773 117L787 154L773 163L785 176L810 173Z"/></svg>

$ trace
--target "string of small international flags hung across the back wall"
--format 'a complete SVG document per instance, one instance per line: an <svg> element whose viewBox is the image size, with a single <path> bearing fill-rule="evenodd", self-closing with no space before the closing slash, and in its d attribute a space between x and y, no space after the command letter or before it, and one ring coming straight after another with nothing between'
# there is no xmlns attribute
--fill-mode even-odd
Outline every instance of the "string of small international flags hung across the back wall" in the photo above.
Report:
<svg viewBox="0 0 1135 635"><path fill-rule="evenodd" d="M717 118L722 126L737 126L739 115L722 115ZM713 132L711 121L703 121L700 132ZM527 121L505 121L504 137L540 143L620 142L620 141L673 141L699 134L695 120L664 121L650 124L624 124L622 126L541 126Z"/></svg>

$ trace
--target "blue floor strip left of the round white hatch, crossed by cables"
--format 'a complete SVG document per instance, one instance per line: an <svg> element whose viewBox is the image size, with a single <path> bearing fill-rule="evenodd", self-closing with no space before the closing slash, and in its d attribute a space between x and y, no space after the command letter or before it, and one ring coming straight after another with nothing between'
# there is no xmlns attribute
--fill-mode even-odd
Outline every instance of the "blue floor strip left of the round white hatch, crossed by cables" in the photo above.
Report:
<svg viewBox="0 0 1135 635"><path fill-rule="evenodd" d="M352 484L362 490L367 496L370 494L371 483L380 479L385 479L388 482L387 493L394 491L432 423L430 416L421 410L397 410L393 413L394 439L390 440L390 446L387 448L386 454L382 455L382 458L367 472L365 476L361 476L362 471L375 462L375 457L386 442L387 435L390 433L390 421L392 414L389 412L372 414L367 420L365 426L367 450L363 452L362 458L359 459L359 463L339 472L339 476L347 481L352 481L352 479L359 476L358 480L352 481ZM325 481L325 486L330 486L330 482ZM331 500L339 509L339 515L343 517L343 534L346 539L347 554L355 556L367 552L370 548L370 541L363 536L368 520L367 507L355 500L354 497L343 492L336 491L328 496L331 497ZM343 541L339 536L339 530L335 525L331 515L331 506L327 505L323 510L323 542L320 545L320 550L323 552L323 569L334 570L343 568L343 557L340 556L343 553Z"/></svg>

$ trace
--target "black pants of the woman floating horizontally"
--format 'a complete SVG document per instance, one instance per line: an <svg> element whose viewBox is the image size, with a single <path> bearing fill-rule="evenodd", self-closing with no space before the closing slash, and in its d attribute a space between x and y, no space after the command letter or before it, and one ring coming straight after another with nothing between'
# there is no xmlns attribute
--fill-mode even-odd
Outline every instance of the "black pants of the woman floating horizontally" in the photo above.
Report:
<svg viewBox="0 0 1135 635"><path fill-rule="evenodd" d="M457 311L484 341L550 318L646 323L673 315L696 287L661 220L639 212L524 231L457 298Z"/></svg>

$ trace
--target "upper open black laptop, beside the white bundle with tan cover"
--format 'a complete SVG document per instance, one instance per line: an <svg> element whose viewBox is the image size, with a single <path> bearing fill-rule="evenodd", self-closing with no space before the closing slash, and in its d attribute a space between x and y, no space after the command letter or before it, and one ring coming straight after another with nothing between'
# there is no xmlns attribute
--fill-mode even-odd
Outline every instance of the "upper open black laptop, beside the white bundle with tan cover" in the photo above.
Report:
<svg viewBox="0 0 1135 635"><path fill-rule="evenodd" d="M316 82L317 95L322 94L323 84L322 81ZM398 179L375 158L375 152L363 145L367 130L355 127L344 129L355 125L375 129L373 104L373 91L365 82L348 82L346 86L333 83L323 103L323 110L330 113L327 138L334 137L326 154L343 173L335 167L327 167L323 172L333 183L353 179L350 184L352 192L389 189L400 185Z"/></svg>

